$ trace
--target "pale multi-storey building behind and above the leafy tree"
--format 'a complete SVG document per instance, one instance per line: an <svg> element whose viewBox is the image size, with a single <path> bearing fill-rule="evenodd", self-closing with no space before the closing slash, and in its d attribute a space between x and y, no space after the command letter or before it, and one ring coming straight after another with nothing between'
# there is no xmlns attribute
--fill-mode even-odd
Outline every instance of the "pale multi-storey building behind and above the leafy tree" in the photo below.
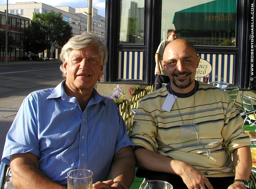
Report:
<svg viewBox="0 0 256 189"><path fill-rule="evenodd" d="M6 5L0 5L0 11L6 11ZM29 19L33 18L34 12L61 12L63 20L68 22L73 28L73 36L82 34L87 31L87 13L88 8L72 8L70 6L53 7L44 3L37 2L19 2L8 5L8 13L10 16L21 16ZM103 43L105 43L105 17L98 15L98 10L92 8L92 32L94 32ZM58 58L61 47L55 46L53 58ZM45 57L47 55L45 54Z"/></svg>

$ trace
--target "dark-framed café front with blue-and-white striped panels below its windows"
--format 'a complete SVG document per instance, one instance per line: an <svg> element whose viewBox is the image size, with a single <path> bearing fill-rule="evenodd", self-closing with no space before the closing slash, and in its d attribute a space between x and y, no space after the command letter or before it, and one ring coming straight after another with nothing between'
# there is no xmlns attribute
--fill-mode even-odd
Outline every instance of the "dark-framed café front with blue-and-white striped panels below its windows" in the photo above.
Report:
<svg viewBox="0 0 256 189"><path fill-rule="evenodd" d="M209 63L198 70L209 82L255 89L254 14L254 0L106 0L104 81L154 84L155 52L176 29Z"/></svg>

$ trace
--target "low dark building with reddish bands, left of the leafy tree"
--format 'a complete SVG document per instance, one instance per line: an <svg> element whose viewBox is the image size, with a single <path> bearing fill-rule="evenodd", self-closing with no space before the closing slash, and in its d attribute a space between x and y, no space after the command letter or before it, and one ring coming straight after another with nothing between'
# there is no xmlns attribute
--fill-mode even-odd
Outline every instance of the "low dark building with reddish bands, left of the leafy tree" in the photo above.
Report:
<svg viewBox="0 0 256 189"><path fill-rule="evenodd" d="M8 14L8 31L11 32L14 38L14 50L8 52L7 60L27 60L28 52L24 50L23 40L25 38L24 29L29 26L29 18L19 15ZM6 32L6 12L0 11L0 35L5 35ZM5 51L0 53L0 61L5 61Z"/></svg>

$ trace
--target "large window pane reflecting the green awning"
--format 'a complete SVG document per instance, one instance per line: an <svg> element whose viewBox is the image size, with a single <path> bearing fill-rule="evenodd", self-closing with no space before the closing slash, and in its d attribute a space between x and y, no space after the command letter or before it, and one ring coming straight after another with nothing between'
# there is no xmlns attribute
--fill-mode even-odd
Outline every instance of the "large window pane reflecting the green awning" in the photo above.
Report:
<svg viewBox="0 0 256 189"><path fill-rule="evenodd" d="M193 45L235 46L236 0L162 0L162 40L168 29Z"/></svg>

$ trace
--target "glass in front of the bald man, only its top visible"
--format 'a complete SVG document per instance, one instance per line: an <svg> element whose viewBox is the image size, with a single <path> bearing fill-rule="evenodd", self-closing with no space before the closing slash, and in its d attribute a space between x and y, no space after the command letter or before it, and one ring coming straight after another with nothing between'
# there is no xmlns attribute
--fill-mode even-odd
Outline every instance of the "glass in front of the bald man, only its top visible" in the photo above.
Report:
<svg viewBox="0 0 256 189"><path fill-rule="evenodd" d="M141 183L140 189L173 189L173 187L166 181L148 180Z"/></svg>

